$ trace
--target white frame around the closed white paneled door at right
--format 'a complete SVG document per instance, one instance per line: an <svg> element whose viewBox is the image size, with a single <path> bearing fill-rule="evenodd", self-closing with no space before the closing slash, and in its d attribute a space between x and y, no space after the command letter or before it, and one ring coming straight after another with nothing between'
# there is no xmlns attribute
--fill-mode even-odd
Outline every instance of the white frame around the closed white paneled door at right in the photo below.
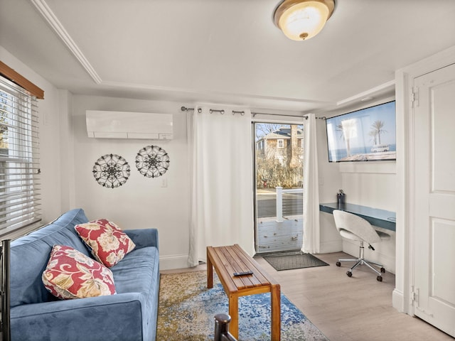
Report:
<svg viewBox="0 0 455 341"><path fill-rule="evenodd" d="M455 63L455 46L395 72L397 105L397 240L392 306L414 316L414 78Z"/></svg>

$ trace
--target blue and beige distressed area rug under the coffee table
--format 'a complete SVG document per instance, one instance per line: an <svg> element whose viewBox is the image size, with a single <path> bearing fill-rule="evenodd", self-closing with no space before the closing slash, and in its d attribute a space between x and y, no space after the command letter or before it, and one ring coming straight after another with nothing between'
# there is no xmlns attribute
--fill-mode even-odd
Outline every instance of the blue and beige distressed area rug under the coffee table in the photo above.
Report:
<svg viewBox="0 0 455 341"><path fill-rule="evenodd" d="M213 341L214 316L228 313L228 296L215 274L207 288L205 271L161 274L156 340ZM270 340L270 294L239 298L239 340ZM289 299L281 297L282 341L327 341Z"/></svg>

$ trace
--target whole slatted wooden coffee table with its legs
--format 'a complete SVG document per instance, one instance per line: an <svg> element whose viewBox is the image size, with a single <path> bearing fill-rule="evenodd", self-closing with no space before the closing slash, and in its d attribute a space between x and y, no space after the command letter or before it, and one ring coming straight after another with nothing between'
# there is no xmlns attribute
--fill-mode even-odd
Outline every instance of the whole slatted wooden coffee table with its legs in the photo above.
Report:
<svg viewBox="0 0 455 341"><path fill-rule="evenodd" d="M239 337L240 296L270 293L272 305L272 341L279 341L281 329L281 297L279 284L239 245L207 247L207 288L213 288L213 268L229 298L230 333ZM252 271L252 275L234 276L235 272Z"/></svg>

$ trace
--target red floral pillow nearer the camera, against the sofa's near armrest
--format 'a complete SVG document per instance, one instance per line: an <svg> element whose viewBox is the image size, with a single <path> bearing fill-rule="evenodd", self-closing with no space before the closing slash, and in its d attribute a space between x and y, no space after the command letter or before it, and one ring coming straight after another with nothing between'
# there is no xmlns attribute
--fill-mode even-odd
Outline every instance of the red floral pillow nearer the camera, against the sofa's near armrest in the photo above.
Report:
<svg viewBox="0 0 455 341"><path fill-rule="evenodd" d="M115 293L112 271L82 252L63 245L53 246L41 278L45 288L62 299Z"/></svg>

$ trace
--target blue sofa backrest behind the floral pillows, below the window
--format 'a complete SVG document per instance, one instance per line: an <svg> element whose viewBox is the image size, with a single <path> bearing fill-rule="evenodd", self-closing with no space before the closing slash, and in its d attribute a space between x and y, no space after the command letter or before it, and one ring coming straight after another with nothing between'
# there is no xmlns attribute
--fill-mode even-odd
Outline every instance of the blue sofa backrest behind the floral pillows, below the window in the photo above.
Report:
<svg viewBox="0 0 455 341"><path fill-rule="evenodd" d="M41 229L11 242L11 307L57 299L43 286L41 275L55 244L68 245L90 255L74 229L75 224L85 222L88 219L84 210L70 210Z"/></svg>

